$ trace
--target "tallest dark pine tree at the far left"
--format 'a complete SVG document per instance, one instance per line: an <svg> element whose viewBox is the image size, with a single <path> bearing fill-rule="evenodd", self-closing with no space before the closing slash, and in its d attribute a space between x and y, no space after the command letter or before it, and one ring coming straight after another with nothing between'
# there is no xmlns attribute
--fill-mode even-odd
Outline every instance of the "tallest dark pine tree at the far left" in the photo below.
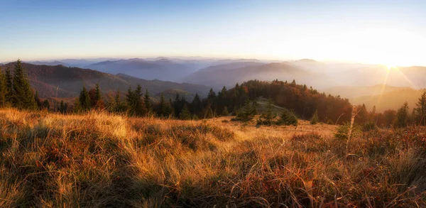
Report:
<svg viewBox="0 0 426 208"><path fill-rule="evenodd" d="M13 104L18 109L35 109L34 94L25 69L18 60L13 71Z"/></svg>

